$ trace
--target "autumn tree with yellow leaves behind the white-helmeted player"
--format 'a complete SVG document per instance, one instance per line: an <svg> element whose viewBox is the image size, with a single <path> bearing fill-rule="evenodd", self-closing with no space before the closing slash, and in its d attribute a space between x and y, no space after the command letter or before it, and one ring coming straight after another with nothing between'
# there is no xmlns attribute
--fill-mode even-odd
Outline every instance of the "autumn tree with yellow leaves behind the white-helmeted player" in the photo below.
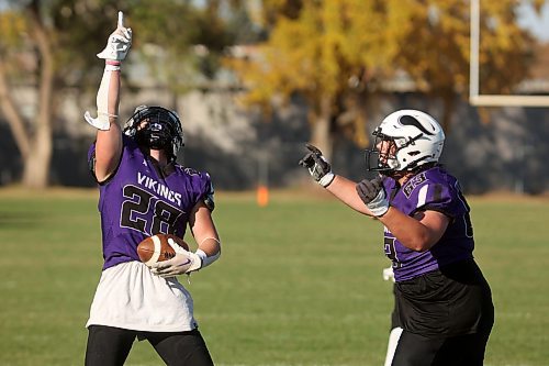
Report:
<svg viewBox="0 0 549 366"><path fill-rule="evenodd" d="M535 1L536 5L542 1ZM445 106L449 129L469 85L470 3L462 0L265 0L268 38L250 57L227 64L243 101L268 111L272 99L306 100L312 143L327 155L335 133L368 144L368 101L405 73L426 98ZM514 0L481 1L483 91L511 89L527 73L534 40L517 25ZM389 90L390 91L390 90ZM372 104L372 103L370 103Z"/></svg>

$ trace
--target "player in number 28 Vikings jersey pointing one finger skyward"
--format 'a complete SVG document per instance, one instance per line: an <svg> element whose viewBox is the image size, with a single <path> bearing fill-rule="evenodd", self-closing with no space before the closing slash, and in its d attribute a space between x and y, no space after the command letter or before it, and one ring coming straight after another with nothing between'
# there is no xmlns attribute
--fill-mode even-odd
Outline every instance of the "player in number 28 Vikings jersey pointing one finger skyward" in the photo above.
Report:
<svg viewBox="0 0 549 366"><path fill-rule="evenodd" d="M176 162L183 145L176 112L141 106L119 124L121 64L132 31L119 13L116 30L98 54L105 60L98 117L86 113L97 131L89 151L99 184L103 267L87 322L86 365L123 365L136 339L147 340L168 365L213 365L193 317L193 301L176 276L199 270L221 254L206 173ZM190 229L195 252L173 241L176 256L147 267L137 244L157 233L183 237Z"/></svg>

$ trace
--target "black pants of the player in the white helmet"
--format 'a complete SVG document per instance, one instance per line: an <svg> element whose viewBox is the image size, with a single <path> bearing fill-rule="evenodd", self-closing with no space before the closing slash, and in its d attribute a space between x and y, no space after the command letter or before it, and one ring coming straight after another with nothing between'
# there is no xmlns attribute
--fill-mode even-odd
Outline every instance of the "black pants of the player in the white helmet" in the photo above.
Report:
<svg viewBox="0 0 549 366"><path fill-rule="evenodd" d="M393 366L483 365L494 307L474 260L396 282L395 304L404 331Z"/></svg>

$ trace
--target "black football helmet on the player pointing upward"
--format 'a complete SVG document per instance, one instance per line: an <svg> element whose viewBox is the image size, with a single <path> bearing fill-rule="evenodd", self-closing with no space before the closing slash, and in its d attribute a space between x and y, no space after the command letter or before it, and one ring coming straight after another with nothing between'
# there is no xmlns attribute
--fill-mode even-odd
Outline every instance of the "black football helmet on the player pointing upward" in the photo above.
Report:
<svg viewBox="0 0 549 366"><path fill-rule="evenodd" d="M170 162L176 159L179 148L184 145L179 117L163 107L137 107L124 124L123 132L139 145L166 151Z"/></svg>

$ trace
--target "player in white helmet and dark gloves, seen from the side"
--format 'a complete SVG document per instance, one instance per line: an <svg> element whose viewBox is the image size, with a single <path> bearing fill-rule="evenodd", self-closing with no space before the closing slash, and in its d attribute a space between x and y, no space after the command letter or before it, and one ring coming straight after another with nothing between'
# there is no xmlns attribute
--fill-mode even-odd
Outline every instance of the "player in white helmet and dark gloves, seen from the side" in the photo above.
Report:
<svg viewBox="0 0 549 366"><path fill-rule="evenodd" d="M494 322L488 281L473 259L469 206L438 159L445 134L427 113L400 110L374 130L360 182L335 175L315 146L300 164L335 197L384 225L403 332L393 366L482 365Z"/></svg>

